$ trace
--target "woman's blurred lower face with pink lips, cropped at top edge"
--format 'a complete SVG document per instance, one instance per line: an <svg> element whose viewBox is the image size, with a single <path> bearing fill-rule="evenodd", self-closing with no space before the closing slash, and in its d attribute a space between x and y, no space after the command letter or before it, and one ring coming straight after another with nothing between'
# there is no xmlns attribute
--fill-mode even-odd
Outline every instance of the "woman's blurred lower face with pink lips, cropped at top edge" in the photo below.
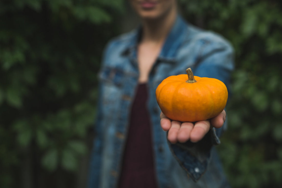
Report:
<svg viewBox="0 0 282 188"><path fill-rule="evenodd" d="M158 19L176 11L176 0L129 0L141 19Z"/></svg>

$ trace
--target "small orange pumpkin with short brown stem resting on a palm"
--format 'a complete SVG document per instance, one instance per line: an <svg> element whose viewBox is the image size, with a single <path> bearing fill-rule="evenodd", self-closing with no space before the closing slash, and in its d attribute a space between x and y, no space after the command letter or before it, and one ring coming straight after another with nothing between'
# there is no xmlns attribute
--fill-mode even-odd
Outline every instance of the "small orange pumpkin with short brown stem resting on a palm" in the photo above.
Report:
<svg viewBox="0 0 282 188"><path fill-rule="evenodd" d="M224 110L228 92L223 82L215 78L188 75L169 76L156 89L160 109L171 120L195 122L217 116Z"/></svg>

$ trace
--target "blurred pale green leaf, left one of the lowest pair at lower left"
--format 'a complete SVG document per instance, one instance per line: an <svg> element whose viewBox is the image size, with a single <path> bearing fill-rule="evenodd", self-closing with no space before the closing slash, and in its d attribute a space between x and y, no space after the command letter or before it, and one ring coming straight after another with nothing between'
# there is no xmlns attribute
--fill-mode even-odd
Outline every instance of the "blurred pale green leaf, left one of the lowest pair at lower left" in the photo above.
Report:
<svg viewBox="0 0 282 188"><path fill-rule="evenodd" d="M42 158L43 167L49 171L54 171L58 166L58 151L50 149Z"/></svg>

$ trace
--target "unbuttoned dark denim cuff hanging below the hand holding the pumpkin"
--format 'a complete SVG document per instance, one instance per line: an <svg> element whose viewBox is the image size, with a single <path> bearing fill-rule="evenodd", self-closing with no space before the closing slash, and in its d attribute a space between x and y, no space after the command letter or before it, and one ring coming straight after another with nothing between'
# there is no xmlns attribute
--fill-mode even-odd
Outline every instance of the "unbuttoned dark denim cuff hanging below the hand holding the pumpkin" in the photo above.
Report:
<svg viewBox="0 0 282 188"><path fill-rule="evenodd" d="M221 129L211 128L197 143L187 141L186 143L172 144L168 141L173 156L194 182L197 182L206 171L213 145L220 144Z"/></svg>

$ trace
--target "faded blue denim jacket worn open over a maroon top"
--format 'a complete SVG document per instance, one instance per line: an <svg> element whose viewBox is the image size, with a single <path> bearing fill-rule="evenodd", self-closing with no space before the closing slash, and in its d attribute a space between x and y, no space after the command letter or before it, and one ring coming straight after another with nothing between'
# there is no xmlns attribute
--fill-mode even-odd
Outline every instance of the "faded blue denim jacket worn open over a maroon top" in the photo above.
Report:
<svg viewBox="0 0 282 188"><path fill-rule="evenodd" d="M119 36L109 42L103 55L89 173L91 188L114 188L118 183L131 104L138 84L139 37L140 28ZM168 76L186 74L188 67L196 76L223 81L229 89L233 49L221 36L198 29L178 16L147 83L158 186L225 188L228 183L213 147L220 143L223 128L212 128L199 143L171 144L160 127L161 111L155 90Z"/></svg>

